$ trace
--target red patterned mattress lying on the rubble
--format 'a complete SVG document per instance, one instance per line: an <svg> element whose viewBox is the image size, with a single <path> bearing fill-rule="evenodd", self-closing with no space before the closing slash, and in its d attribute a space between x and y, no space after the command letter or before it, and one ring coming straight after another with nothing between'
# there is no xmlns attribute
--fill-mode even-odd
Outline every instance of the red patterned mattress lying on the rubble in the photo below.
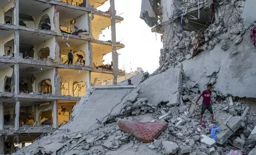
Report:
<svg viewBox="0 0 256 155"><path fill-rule="evenodd" d="M131 134L144 143L150 143L167 127L168 123L162 122L138 122L119 119L118 125L121 131Z"/></svg>

